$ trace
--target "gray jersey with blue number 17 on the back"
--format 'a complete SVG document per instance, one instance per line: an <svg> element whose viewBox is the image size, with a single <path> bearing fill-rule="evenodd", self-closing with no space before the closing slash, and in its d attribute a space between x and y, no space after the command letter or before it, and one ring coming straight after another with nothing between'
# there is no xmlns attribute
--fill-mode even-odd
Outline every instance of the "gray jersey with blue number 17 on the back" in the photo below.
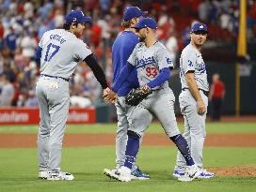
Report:
<svg viewBox="0 0 256 192"><path fill-rule="evenodd" d="M40 73L69 79L79 61L92 52L86 43L65 29L54 29L43 34Z"/></svg>

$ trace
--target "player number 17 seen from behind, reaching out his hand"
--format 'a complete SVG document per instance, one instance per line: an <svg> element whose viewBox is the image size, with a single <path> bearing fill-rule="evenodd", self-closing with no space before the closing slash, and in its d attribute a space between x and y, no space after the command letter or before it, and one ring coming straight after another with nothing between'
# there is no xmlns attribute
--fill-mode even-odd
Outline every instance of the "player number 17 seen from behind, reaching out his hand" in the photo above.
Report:
<svg viewBox="0 0 256 192"><path fill-rule="evenodd" d="M36 57L40 59L40 79L36 91L40 105L38 135L39 178L72 180L71 173L60 171L64 130L70 105L69 80L78 62L84 61L95 77L109 91L104 71L88 46L78 37L91 22L80 10L65 17L64 29L45 32L40 39Z"/></svg>

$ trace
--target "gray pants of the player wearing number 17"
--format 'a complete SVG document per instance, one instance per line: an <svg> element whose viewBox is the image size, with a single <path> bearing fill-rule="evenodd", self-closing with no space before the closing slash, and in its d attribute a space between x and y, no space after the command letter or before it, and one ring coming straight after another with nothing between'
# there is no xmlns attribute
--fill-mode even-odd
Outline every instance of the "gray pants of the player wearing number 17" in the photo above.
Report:
<svg viewBox="0 0 256 192"><path fill-rule="evenodd" d="M69 82L59 78L40 77L36 92L40 105L39 167L40 170L59 171L70 105Z"/></svg>

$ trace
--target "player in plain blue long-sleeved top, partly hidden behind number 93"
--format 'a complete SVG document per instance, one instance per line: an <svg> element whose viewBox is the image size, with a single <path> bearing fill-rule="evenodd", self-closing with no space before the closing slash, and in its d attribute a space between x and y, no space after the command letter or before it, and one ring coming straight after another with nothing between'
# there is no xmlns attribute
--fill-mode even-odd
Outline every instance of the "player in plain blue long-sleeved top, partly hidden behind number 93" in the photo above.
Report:
<svg viewBox="0 0 256 192"><path fill-rule="evenodd" d="M147 14L147 12L141 11L138 7L127 7L124 11L122 20L122 26L124 27L124 31L122 31L120 35L116 38L112 47L114 83L117 81L122 67L126 64L130 54L133 52L136 44L138 43L136 30L132 27L134 27L139 21L139 18L145 14ZM129 92L136 87L138 87L138 81L135 68L127 78L127 81L122 84L118 92L118 101L115 104L118 114L118 130L116 137L117 169L119 169L124 164L127 130L129 126L128 116L134 109L134 107L126 105L124 103L124 99L125 96L127 96ZM104 169L104 174L112 177L115 171L116 170ZM132 175L134 176L134 179L150 179L149 175L143 173L135 165L132 168Z"/></svg>

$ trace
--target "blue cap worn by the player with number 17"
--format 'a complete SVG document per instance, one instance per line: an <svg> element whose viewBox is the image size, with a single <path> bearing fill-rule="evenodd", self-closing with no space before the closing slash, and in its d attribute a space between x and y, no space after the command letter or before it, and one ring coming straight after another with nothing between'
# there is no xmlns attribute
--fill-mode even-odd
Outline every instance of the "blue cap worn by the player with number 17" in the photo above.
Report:
<svg viewBox="0 0 256 192"><path fill-rule="evenodd" d="M76 23L91 23L90 17L85 17L85 14L82 10L71 10L65 17L65 22L71 24L72 22Z"/></svg>

